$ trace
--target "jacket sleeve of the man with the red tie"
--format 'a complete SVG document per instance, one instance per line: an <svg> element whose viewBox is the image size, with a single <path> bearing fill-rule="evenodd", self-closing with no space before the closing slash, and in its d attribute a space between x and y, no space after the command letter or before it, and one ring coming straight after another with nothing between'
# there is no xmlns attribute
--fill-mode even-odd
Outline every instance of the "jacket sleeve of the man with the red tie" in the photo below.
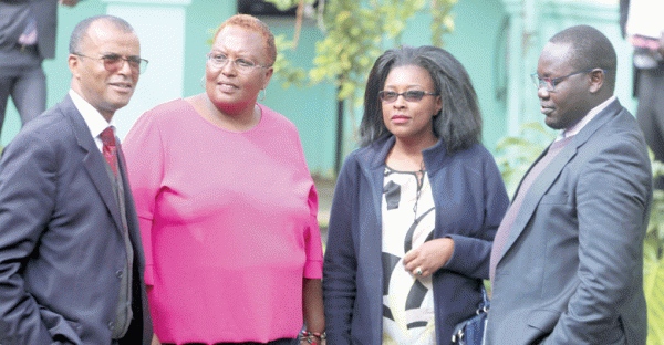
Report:
<svg viewBox="0 0 664 345"><path fill-rule="evenodd" d="M14 138L0 159L1 344L54 342L41 320L41 306L25 289L22 271L40 250L40 238L54 209L55 157L51 145L33 134ZM66 326L64 318L61 324Z"/></svg>

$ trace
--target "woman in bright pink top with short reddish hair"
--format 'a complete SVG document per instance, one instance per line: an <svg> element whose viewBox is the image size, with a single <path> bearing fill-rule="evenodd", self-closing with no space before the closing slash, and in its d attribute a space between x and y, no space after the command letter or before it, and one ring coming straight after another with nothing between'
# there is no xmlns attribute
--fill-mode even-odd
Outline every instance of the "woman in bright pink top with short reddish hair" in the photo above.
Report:
<svg viewBox="0 0 664 345"><path fill-rule="evenodd" d="M313 180L294 125L256 103L276 54L263 22L231 17L206 92L143 114L124 142L154 343L292 344L303 322L324 337Z"/></svg>

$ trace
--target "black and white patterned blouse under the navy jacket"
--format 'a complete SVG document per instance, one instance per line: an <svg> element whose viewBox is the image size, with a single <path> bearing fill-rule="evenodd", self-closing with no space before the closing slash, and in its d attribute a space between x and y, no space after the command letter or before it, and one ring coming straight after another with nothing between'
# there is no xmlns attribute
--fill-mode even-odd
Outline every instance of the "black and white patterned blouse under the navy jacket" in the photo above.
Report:
<svg viewBox="0 0 664 345"><path fill-rule="evenodd" d="M436 210L426 171L385 167L382 208L383 344L436 344L432 276L414 276L403 263L411 249L434 236Z"/></svg>

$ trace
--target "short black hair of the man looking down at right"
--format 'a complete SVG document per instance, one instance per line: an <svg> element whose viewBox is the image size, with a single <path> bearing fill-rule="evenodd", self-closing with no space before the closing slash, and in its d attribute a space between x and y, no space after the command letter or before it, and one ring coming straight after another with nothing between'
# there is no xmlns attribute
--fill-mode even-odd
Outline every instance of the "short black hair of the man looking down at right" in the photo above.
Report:
<svg viewBox="0 0 664 345"><path fill-rule="evenodd" d="M602 32L590 25L575 25L554 34L549 42L570 44L569 59L578 71L590 69L606 71L606 82L613 92L618 58L613 44Z"/></svg>

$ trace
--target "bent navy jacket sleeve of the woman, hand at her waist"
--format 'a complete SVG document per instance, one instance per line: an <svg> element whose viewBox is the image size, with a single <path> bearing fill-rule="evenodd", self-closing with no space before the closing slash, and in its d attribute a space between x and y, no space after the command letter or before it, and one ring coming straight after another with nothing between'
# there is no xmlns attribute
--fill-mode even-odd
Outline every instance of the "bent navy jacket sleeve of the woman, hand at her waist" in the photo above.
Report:
<svg viewBox="0 0 664 345"><path fill-rule="evenodd" d="M481 150L481 174L475 181L476 186L467 186L468 192L475 191L476 215L481 220L479 229L469 232L469 236L449 234L454 240L454 252L449 261L443 266L446 270L459 272L461 274L477 278L489 279L489 258L494 237L500 221L509 207L509 198L505 190L505 184L496 161L486 150Z"/></svg>

